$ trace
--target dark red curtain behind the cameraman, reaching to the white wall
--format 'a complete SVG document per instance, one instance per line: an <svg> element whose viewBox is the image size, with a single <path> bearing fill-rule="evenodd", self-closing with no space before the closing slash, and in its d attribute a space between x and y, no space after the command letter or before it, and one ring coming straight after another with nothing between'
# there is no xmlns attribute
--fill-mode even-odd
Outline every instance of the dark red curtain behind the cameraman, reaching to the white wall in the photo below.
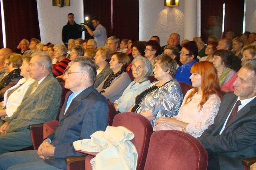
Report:
<svg viewBox="0 0 256 170"><path fill-rule="evenodd" d="M138 0L84 0L84 16L90 18L98 16L107 30L108 37L118 36L139 40L138 3ZM111 5L113 5L113 13Z"/></svg>

